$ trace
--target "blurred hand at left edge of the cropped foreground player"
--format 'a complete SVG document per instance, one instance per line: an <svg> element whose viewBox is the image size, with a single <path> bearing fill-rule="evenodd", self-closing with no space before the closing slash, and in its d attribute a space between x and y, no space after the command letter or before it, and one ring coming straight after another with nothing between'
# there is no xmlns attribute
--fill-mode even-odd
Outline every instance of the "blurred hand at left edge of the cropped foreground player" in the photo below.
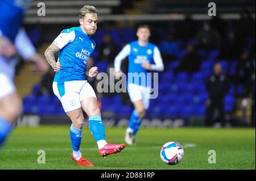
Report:
<svg viewBox="0 0 256 181"><path fill-rule="evenodd" d="M11 58L16 53L14 45L6 37L0 37L0 56Z"/></svg>

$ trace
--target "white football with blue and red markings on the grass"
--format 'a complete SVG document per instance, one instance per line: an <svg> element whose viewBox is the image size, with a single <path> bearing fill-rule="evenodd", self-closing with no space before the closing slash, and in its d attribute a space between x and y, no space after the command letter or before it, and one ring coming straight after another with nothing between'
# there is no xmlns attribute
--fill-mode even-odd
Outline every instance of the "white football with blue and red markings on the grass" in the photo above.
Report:
<svg viewBox="0 0 256 181"><path fill-rule="evenodd" d="M160 150L160 158L168 165L176 165L184 157L183 147L178 142L167 142Z"/></svg>

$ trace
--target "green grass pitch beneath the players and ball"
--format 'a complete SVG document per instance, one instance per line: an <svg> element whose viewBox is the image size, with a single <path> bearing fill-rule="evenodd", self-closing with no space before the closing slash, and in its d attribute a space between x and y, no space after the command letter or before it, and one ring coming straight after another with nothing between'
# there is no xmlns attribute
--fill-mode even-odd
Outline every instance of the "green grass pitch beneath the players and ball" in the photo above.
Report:
<svg viewBox="0 0 256 181"><path fill-rule="evenodd" d="M124 142L125 128L106 128L110 143ZM0 151L0 169L255 169L255 129L251 128L142 128L137 144L122 153L100 157L89 128L82 132L81 152L94 167L79 167L72 161L68 126L18 127ZM166 165L159 156L162 145L177 141L184 146L184 159ZM38 150L46 163L38 163ZM216 163L209 164L209 150Z"/></svg>

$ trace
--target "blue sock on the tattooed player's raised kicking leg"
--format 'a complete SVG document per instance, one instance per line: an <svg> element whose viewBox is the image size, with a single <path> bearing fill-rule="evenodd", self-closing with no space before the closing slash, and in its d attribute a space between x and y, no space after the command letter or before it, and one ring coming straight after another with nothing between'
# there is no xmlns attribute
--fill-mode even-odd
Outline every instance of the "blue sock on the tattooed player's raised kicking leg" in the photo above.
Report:
<svg viewBox="0 0 256 181"><path fill-rule="evenodd" d="M96 142L105 140L105 127L101 121L101 116L89 117L89 129Z"/></svg>

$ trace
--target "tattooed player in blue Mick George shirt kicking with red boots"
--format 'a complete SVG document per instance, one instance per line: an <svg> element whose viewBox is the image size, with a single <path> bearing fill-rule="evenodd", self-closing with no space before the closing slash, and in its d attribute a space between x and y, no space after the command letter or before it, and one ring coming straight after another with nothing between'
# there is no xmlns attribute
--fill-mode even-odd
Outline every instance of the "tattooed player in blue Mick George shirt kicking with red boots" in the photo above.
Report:
<svg viewBox="0 0 256 181"><path fill-rule="evenodd" d="M101 112L97 105L94 90L86 81L86 75L94 77L98 68L86 71L86 64L95 48L91 39L97 30L98 11L93 6L84 6L79 11L80 26L69 28L60 33L46 49L47 61L56 71L53 91L60 99L64 111L72 120L70 137L73 152L72 159L80 166L93 166L80 152L84 115L89 116L89 129L97 142L102 157L119 153L125 144L108 144L105 140L105 128L101 120ZM55 53L59 52L59 60L55 61Z"/></svg>

